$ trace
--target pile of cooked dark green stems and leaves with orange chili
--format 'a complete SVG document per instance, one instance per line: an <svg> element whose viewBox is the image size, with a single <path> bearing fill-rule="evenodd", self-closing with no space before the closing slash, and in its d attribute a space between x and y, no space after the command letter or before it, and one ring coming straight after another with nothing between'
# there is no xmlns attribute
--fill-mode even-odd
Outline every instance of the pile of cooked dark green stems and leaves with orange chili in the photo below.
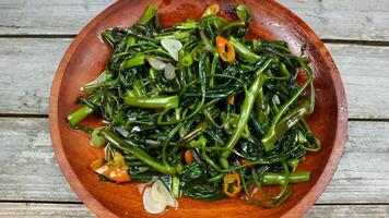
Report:
<svg viewBox="0 0 389 218"><path fill-rule="evenodd" d="M104 148L91 164L102 180L161 180L176 198L244 193L263 207L279 206L290 184L309 180L310 172L294 171L320 149L304 120L315 105L304 48L295 56L285 41L245 38L252 15L244 4L228 20L217 14L214 4L200 21L163 28L149 5L131 27L103 33L113 55L68 117ZM297 83L298 74L306 80ZM79 125L91 113L106 124Z"/></svg>

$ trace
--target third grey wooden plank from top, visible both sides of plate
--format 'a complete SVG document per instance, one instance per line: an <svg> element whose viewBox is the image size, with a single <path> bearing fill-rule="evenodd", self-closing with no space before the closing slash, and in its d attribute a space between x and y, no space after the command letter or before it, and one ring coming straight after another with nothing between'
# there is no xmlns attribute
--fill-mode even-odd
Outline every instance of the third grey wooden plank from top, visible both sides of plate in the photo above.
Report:
<svg viewBox="0 0 389 218"><path fill-rule="evenodd" d="M389 122L351 121L349 129L341 164L318 203L389 204ZM79 202L56 162L47 119L0 118L0 199Z"/></svg>

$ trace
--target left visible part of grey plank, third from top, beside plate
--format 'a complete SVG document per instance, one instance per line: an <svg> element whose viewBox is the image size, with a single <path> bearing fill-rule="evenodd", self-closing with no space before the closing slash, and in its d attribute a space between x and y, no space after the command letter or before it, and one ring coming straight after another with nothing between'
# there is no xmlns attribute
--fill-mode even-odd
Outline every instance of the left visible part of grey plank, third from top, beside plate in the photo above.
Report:
<svg viewBox="0 0 389 218"><path fill-rule="evenodd" d="M0 199L79 202L57 165L47 119L0 123Z"/></svg>

